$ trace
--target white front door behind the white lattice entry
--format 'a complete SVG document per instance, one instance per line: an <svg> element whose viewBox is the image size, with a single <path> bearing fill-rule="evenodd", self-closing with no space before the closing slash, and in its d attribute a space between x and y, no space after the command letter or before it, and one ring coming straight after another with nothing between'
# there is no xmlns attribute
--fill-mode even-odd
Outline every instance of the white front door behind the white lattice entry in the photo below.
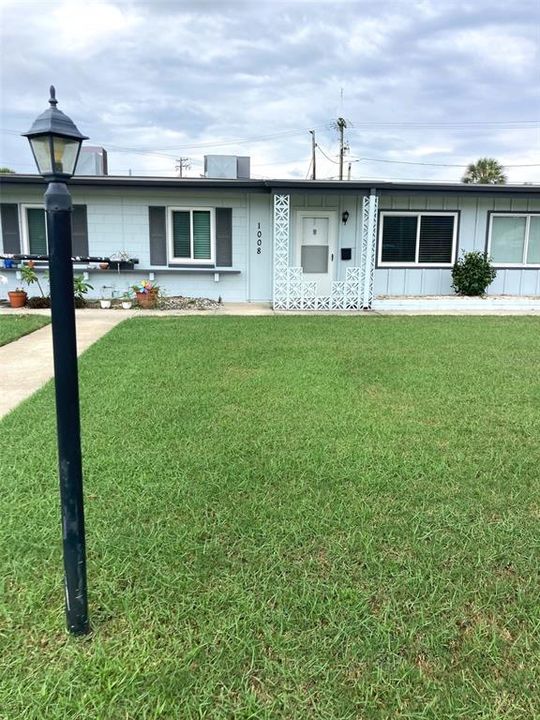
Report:
<svg viewBox="0 0 540 720"><path fill-rule="evenodd" d="M330 295L336 267L336 213L298 211L296 265L304 280L317 282L317 295Z"/></svg>

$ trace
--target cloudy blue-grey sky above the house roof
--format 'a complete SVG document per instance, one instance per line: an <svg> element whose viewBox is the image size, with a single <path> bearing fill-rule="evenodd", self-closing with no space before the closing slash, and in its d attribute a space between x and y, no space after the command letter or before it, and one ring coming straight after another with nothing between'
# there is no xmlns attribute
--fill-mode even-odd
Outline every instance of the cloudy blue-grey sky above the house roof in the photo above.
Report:
<svg viewBox="0 0 540 720"><path fill-rule="evenodd" d="M459 180L499 159L540 182L540 0L0 0L0 165L59 107L111 175L188 175L250 155L254 177ZM513 167L512 167L513 166Z"/></svg>

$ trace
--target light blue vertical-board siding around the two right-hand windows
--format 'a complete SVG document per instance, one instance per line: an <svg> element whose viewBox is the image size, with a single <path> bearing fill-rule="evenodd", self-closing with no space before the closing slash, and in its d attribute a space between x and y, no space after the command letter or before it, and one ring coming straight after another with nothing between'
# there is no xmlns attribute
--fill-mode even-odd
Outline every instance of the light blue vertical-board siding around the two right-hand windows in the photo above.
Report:
<svg viewBox="0 0 540 720"><path fill-rule="evenodd" d="M464 196L459 194L381 195L379 211L459 211L457 254L484 252L490 211L540 211L540 199L524 197ZM377 242L379 234L377 232ZM378 247L377 247L378 249ZM450 268L375 268L374 293L381 296L454 295ZM498 269L488 295L539 295L538 268Z"/></svg>

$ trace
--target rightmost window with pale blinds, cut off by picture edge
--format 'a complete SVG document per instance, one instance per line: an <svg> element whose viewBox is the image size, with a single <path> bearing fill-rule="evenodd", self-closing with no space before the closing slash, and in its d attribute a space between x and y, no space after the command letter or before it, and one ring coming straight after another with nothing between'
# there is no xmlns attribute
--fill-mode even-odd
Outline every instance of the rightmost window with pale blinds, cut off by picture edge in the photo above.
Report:
<svg viewBox="0 0 540 720"><path fill-rule="evenodd" d="M540 214L491 214L488 255L494 265L540 266Z"/></svg>

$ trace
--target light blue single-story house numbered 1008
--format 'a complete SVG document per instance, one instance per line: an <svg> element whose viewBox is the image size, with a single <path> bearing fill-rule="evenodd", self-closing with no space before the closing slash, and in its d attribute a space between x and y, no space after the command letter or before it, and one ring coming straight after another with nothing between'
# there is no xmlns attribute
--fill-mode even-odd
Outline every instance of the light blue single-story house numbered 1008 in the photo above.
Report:
<svg viewBox="0 0 540 720"><path fill-rule="evenodd" d="M540 296L540 185L76 176L69 187L74 256L138 260L75 263L95 296L150 277L169 295L370 308L453 295L452 265L469 250L497 268L489 294ZM40 176L0 176L0 254L46 254L44 190ZM0 272L4 290L17 284L16 268Z"/></svg>

